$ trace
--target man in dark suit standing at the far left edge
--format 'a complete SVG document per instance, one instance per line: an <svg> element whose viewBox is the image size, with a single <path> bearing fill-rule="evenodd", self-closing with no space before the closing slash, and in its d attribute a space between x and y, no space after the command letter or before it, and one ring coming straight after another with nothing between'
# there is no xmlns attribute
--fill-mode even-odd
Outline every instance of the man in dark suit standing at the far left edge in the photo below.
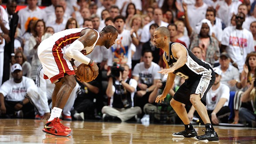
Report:
<svg viewBox="0 0 256 144"><path fill-rule="evenodd" d="M6 80L9 80L10 76L10 62L12 64L15 63L14 60L14 35L16 32L16 28L18 25L18 20L19 16L17 15L16 11L17 3L16 0L8 0L6 4L6 11L9 16L9 25L10 25L10 30L9 30L9 37L10 41L4 46L4 73L3 73L3 82L4 83Z"/></svg>

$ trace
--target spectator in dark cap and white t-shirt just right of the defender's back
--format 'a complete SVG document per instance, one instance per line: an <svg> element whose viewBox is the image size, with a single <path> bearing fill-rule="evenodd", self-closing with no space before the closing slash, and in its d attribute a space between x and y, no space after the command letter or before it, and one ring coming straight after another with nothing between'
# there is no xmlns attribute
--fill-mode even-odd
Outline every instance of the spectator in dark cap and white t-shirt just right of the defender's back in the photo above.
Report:
<svg viewBox="0 0 256 144"><path fill-rule="evenodd" d="M239 71L234 66L230 65L230 57L228 56L227 52L222 52L220 54L220 68L222 71L221 80L222 84L226 84L230 91L237 91L238 89L242 88L239 79Z"/></svg>

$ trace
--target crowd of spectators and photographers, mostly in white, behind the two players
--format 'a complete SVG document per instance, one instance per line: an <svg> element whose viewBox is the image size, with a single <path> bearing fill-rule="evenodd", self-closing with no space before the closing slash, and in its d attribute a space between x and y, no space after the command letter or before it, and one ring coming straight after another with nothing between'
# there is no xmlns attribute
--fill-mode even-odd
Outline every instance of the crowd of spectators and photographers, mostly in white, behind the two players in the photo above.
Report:
<svg viewBox="0 0 256 144"><path fill-rule="evenodd" d="M6 8L0 6L0 118L48 118L54 84L44 80L37 56L41 41L65 29L93 28L100 32L104 26L113 25L119 33L116 43L109 49L96 46L87 55L97 63L99 76L89 83L77 81L62 119L143 122L150 118L154 122L180 124L169 101L186 77L176 76L166 100L155 103L167 76L158 73L166 67L164 52L155 47L153 33L164 26L170 31L172 42L183 44L198 59L217 68L214 71L219 79L207 95L212 123L256 126L254 0L3 2ZM16 11L20 4L26 7ZM47 6L39 8L41 5ZM184 107L191 121L202 123L193 107Z"/></svg>

